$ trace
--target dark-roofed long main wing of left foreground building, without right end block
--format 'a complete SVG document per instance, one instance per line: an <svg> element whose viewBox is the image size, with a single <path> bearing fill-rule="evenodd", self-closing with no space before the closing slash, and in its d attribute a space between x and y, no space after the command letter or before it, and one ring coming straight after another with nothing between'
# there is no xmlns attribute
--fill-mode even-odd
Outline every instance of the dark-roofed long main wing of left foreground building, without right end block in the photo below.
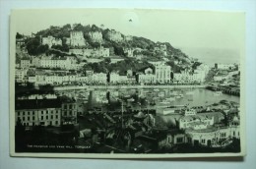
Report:
<svg viewBox="0 0 256 169"><path fill-rule="evenodd" d="M27 127L60 126L61 101L58 99L16 100L15 120Z"/></svg>

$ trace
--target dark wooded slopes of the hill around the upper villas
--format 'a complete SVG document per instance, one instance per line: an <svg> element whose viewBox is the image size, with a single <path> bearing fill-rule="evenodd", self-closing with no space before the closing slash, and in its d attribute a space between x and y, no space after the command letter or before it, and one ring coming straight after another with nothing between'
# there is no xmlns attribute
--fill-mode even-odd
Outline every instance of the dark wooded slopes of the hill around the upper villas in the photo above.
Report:
<svg viewBox="0 0 256 169"><path fill-rule="evenodd" d="M110 55L117 55L120 57L129 60L127 57L127 53L125 49L132 49L134 56L143 56L143 60L141 62L146 63L149 61L165 61L167 65L171 66L175 72L179 72L185 67L191 67L192 62L191 59L183 53L180 49L174 48L171 46L169 42L154 42L145 37L131 36L129 40L126 40L126 34L122 34L123 40L114 41L109 39L107 33L109 31L118 32L114 29L104 28L103 25L97 27L96 25L88 25L83 26L81 24L75 24L73 26L67 24L63 27L54 27L42 29L37 31L33 37L26 39L25 47L28 50L30 55L36 56L42 53L50 53L47 45L42 45L40 40L41 37L53 36L56 38L62 39L62 45L53 45L51 48L55 48L64 52L68 52L71 46L66 44L66 39L70 37L71 30L83 31L84 38L86 39L87 46L86 48L97 48L100 45L103 47L108 47L110 49ZM89 32L99 31L102 34L102 41L95 42L92 40ZM20 37L21 34L18 34L17 38ZM160 49L160 46L164 46L164 51ZM158 48L159 47L159 48ZM160 50L158 50L160 49ZM164 52L164 55L163 55ZM56 53L55 53L56 54ZM136 61L132 61L130 63L136 63ZM139 63L139 62L138 62ZM134 66L135 68L136 66ZM136 69L136 68L135 68Z"/></svg>

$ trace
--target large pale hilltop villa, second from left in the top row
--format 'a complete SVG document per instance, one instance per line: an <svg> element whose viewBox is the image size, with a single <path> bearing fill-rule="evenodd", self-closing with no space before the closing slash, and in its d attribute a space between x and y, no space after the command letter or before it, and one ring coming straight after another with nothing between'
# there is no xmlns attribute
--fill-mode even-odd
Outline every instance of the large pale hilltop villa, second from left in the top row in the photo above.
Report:
<svg viewBox="0 0 256 169"><path fill-rule="evenodd" d="M70 32L70 38L67 38L66 43L72 47L85 46L86 40L83 31L72 30Z"/></svg>

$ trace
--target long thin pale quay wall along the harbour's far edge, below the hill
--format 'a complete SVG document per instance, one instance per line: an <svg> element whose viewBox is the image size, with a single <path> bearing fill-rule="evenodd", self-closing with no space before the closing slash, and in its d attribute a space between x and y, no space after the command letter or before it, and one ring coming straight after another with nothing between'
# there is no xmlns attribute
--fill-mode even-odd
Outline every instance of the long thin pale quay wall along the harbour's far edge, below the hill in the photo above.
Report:
<svg viewBox="0 0 256 169"><path fill-rule="evenodd" d="M54 86L53 90L74 90L74 89L134 89L134 88L205 88L206 84L197 85L73 85Z"/></svg>

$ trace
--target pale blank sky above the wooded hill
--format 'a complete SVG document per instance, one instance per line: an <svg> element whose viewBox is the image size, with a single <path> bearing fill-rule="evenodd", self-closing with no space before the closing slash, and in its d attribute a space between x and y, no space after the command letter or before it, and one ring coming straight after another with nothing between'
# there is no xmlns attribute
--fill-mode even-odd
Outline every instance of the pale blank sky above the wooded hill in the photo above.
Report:
<svg viewBox="0 0 256 169"><path fill-rule="evenodd" d="M18 32L31 34L66 24L104 25L126 35L169 42L203 62L239 62L244 47L244 14L227 12L76 9L17 10L12 18Z"/></svg>

